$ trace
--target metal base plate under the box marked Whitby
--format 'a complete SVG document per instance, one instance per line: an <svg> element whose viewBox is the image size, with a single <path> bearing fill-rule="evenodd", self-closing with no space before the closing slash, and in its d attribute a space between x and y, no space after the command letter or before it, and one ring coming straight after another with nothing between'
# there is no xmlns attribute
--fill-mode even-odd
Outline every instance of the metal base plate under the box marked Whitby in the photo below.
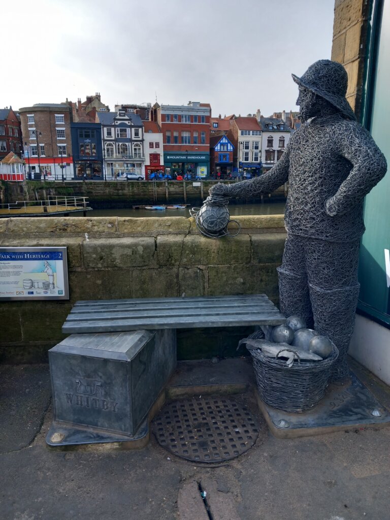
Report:
<svg viewBox="0 0 390 520"><path fill-rule="evenodd" d="M146 419L138 428L137 433L130 437L116 433L95 430L94 428L82 428L71 426L66 423L54 421L46 435L46 444L49 446L69 446L73 444L96 444L96 443L129 443L126 448L140 448L145 446L149 440L149 426Z"/></svg>

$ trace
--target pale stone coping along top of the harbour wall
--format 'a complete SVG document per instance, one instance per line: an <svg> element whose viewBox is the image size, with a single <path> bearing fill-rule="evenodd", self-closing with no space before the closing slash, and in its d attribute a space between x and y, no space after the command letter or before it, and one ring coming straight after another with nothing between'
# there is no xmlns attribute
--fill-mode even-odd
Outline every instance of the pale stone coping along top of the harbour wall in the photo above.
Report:
<svg viewBox="0 0 390 520"><path fill-rule="evenodd" d="M233 216L241 232L284 232L284 215ZM236 229L232 225L232 229ZM10 217L0 219L0 239L22 236L157 236L199 233L193 217Z"/></svg>

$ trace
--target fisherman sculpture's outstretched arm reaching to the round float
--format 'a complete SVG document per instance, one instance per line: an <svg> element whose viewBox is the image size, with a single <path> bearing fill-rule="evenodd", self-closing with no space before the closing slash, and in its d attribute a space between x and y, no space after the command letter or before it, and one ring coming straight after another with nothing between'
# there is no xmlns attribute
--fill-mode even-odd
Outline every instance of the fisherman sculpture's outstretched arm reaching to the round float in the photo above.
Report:
<svg viewBox="0 0 390 520"><path fill-rule="evenodd" d="M209 190L211 196L226 197L229 199L240 197L253 197L271 193L287 182L289 178L290 149L287 145L282 157L269 172L254 177L250 180L242 180L239 183L218 183Z"/></svg>

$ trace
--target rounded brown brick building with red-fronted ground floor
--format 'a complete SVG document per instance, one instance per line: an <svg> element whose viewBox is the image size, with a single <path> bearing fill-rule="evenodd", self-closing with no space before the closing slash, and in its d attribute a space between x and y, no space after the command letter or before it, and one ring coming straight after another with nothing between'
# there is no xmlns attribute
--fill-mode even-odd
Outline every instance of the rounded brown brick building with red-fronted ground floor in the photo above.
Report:
<svg viewBox="0 0 390 520"><path fill-rule="evenodd" d="M28 178L61 180L63 175L73 179L71 107L38 103L21 108L19 114Z"/></svg>

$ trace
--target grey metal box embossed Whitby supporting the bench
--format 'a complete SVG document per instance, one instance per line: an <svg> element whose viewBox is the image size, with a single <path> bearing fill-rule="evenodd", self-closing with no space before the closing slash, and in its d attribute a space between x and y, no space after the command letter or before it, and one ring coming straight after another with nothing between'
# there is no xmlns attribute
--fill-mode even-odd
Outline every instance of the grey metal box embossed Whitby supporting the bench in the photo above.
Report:
<svg viewBox="0 0 390 520"><path fill-rule="evenodd" d="M176 367L176 330L72 334L49 364L55 423L132 437Z"/></svg>

